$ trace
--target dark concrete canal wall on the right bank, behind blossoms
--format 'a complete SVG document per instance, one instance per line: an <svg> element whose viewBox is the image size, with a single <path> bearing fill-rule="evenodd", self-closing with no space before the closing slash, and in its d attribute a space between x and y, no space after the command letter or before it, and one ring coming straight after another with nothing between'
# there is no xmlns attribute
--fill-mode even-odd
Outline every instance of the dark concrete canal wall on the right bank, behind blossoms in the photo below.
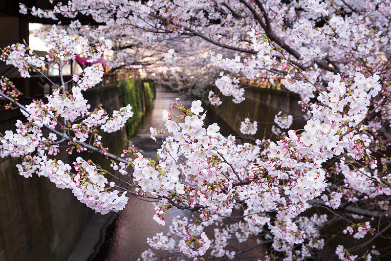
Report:
<svg viewBox="0 0 391 261"><path fill-rule="evenodd" d="M214 87L213 91L219 93L217 87ZM240 133L240 122L249 117L258 121L258 132L254 137L270 138L274 116L279 111L293 116L291 128L302 128L305 123L301 107L298 106L300 96L287 90L249 87L245 89L246 99L239 104L233 103L232 97L221 94L219 97L222 104L218 107L211 106L210 109L237 133Z"/></svg>

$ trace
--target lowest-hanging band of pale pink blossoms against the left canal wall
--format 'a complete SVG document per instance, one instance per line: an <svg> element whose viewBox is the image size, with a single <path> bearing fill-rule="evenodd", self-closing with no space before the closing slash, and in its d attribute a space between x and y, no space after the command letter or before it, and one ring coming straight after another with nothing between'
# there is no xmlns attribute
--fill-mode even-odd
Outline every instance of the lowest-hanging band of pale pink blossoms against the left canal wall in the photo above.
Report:
<svg viewBox="0 0 391 261"><path fill-rule="evenodd" d="M17 127L19 131L27 131L22 123L18 123ZM17 164L21 175L31 177L32 174L37 174L48 177L57 187L72 189L73 194L81 202L102 214L110 211L117 212L125 207L128 201L128 197L125 196L126 192L119 195L119 191L106 188L105 184L109 184L109 182L104 175L98 174L96 167L88 164L81 157L78 157L75 163L78 174L72 174L69 164L62 160L49 159L46 156L46 153L55 155L58 152L58 145L53 145L57 138L54 133L50 133L48 139L42 138L32 141L30 137L31 134L28 133L20 135L7 131L6 135L1 138L2 157L8 153L14 156L24 155L22 164ZM15 152L10 152L11 146ZM37 154L31 155L30 153L34 152L36 148L38 149Z"/></svg>

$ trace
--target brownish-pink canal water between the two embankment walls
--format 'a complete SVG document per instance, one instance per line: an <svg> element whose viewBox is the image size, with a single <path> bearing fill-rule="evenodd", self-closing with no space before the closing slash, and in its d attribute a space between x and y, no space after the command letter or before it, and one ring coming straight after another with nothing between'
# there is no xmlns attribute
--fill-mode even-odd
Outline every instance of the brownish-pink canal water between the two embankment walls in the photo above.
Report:
<svg viewBox="0 0 391 261"><path fill-rule="evenodd" d="M157 130L165 129L164 122L161 120L162 110L164 109L170 111L172 115L179 115L179 110L170 108L176 97L181 99L185 108L190 108L191 102L195 99L187 94L179 94L162 87L156 88L156 98L150 113L145 117L138 134L130 139L129 146L134 145L145 157L156 159L156 149L160 148L161 140L157 139L157 142L155 142L150 138L150 127ZM203 107L206 109L205 106ZM217 122L220 126L220 133L223 135L235 133L216 117L211 113L207 113L205 125L208 126L213 122ZM154 214L154 206L151 202L134 197L129 198L125 210L118 214L105 215L107 217L95 214L91 218L91 224L86 229L89 232L82 236L68 261L136 261L138 258L141 259L141 253L150 248L147 244L147 238L152 238L157 232L167 233L174 216L189 216L190 212L187 213L175 208L170 209L165 214L166 226L157 224L152 219ZM92 248L92 242L96 241L98 242L94 243ZM85 256L83 252L92 253L87 257L82 257ZM153 252L156 254L157 260L162 260L168 255L163 251L154 250ZM212 261L213 259L208 260Z"/></svg>

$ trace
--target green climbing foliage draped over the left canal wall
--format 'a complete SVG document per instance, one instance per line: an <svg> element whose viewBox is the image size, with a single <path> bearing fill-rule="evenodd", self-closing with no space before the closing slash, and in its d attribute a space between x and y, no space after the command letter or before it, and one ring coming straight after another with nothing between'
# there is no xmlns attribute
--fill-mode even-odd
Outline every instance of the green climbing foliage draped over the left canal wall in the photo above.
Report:
<svg viewBox="0 0 391 261"><path fill-rule="evenodd" d="M139 78L124 79L120 82L119 93L123 106L130 104L134 113L125 125L128 138L130 138L136 134L145 112L155 98L155 85L153 82L143 82Z"/></svg>

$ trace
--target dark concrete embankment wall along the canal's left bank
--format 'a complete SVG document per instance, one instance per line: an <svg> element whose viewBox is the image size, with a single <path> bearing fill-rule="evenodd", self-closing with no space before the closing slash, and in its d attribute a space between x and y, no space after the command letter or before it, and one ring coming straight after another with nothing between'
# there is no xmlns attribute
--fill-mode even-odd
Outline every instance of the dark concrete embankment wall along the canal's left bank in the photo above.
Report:
<svg viewBox="0 0 391 261"><path fill-rule="evenodd" d="M134 99L144 97L144 85L138 88L143 96ZM103 104L111 115L114 109L123 107L125 99L120 100L119 93L119 85L113 84L89 89L84 96L91 108ZM146 108L150 101L144 103ZM0 109L0 132L15 129L17 119L24 120L19 111ZM127 148L125 128L101 134L110 152L121 153ZM61 153L56 158L71 163L77 156L76 152ZM85 152L84 158L109 168L110 162L103 156ZM59 189L45 177L19 175L15 167L19 163L19 159L0 158L0 261L65 261L93 211L69 189Z"/></svg>

